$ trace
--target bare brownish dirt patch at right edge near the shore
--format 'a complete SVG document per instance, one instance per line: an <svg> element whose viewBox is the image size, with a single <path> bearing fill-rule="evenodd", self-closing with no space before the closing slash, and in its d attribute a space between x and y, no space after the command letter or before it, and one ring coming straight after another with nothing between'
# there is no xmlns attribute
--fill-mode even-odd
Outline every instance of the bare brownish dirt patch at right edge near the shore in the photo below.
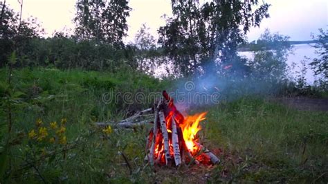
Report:
<svg viewBox="0 0 328 184"><path fill-rule="evenodd" d="M288 107L292 107L301 111L328 111L328 99L323 98L276 98L277 102L281 102Z"/></svg>

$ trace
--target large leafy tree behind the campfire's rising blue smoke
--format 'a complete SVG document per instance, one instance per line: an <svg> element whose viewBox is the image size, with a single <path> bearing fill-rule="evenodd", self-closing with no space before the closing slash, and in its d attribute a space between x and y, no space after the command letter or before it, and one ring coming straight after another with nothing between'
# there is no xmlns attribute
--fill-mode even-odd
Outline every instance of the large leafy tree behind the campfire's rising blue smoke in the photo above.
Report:
<svg viewBox="0 0 328 184"><path fill-rule="evenodd" d="M237 57L237 46L251 26L268 17L268 4L256 10L258 1L172 1L174 17L159 28L158 43L174 62L176 73L190 75L200 71L240 73L245 61ZM217 62L215 62L217 61ZM219 67L217 67L217 65Z"/></svg>

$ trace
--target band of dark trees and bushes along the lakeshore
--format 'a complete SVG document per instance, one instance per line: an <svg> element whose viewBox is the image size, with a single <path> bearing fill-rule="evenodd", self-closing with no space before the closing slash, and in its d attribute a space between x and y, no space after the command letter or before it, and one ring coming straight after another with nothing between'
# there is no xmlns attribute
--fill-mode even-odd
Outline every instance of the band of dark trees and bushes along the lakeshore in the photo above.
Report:
<svg viewBox="0 0 328 184"><path fill-rule="evenodd" d="M21 8L23 8L23 1ZM143 25L132 43L126 44L127 0L77 1L75 32L42 37L37 20L21 19L5 3L0 5L0 67L45 66L119 71L131 68L154 73L158 66L172 77L219 75L268 81L289 80L286 58L291 44L312 44L320 58L311 61L318 75L328 78L328 33L320 30L313 41L289 41L288 36L266 30L256 42L247 42L250 28L268 17L268 3L253 1L174 1L172 17L158 28L158 39ZM257 5L257 6L255 6ZM318 42L316 41L318 40ZM253 51L253 60L238 51ZM274 50L274 52L273 52ZM170 66L170 67L169 67Z"/></svg>

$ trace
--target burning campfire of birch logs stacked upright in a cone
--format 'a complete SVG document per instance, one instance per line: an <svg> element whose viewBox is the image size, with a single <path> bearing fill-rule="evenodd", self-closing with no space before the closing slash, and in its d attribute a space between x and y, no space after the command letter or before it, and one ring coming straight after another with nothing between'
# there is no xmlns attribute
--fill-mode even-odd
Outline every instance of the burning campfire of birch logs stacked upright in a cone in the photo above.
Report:
<svg viewBox="0 0 328 184"><path fill-rule="evenodd" d="M206 113L184 117L166 91L154 108L154 127L147 138L145 160L150 165L176 165L182 163L217 164L219 158L199 143L199 122Z"/></svg>

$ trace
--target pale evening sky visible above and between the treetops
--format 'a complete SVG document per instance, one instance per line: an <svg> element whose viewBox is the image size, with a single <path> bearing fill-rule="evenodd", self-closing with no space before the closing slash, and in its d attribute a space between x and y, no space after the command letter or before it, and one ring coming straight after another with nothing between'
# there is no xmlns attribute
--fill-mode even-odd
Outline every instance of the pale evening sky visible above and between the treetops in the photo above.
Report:
<svg viewBox="0 0 328 184"><path fill-rule="evenodd" d="M1 0L3 1L3 0ZM271 32L289 35L291 40L309 40L311 33L318 33L318 28L327 29L328 1L327 0L264 0L271 3L270 18L264 19L261 28L252 28L248 40L257 39L265 28ZM172 15L170 0L130 0L132 8L126 42L133 41L141 24L149 26L152 35L157 37L157 29L165 25L163 14ZM260 1L261 2L261 1ZM17 0L7 0L15 11L19 11ZM74 28L72 19L75 15L75 0L24 0L22 17L37 17L46 36L51 36L55 30Z"/></svg>

